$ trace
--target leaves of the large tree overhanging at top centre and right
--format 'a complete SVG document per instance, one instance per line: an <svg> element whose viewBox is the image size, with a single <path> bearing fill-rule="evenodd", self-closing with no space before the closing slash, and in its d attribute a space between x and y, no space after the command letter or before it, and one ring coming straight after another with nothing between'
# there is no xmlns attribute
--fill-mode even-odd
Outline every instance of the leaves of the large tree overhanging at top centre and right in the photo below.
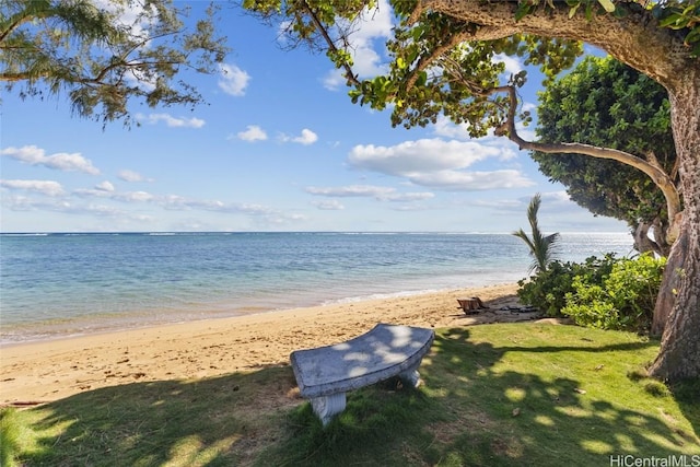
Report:
<svg viewBox="0 0 700 467"><path fill-rule="evenodd" d="M279 15L280 23L287 25L285 31L294 43L306 42L314 48L326 49L336 66L345 69L348 84L354 87L350 91L352 102L376 109L394 104L392 122L406 127L429 125L444 114L455 124L468 122L468 132L472 137L500 128L508 118L508 100L499 95L505 85L500 81L505 68L495 56L523 57L526 65L539 67L551 78L573 66L575 58L583 52L579 40L527 34L469 40L478 37L479 25L430 9L418 19L415 16L418 2L400 0L392 2L400 24L394 28L394 37L387 43L393 59L389 72L360 80L352 70L349 33L353 27L349 23L361 19L375 3L358 0L246 0L243 4L266 19ZM695 8L700 9L700 3L689 3L658 2L650 8L646 15L670 15L662 23L663 27L682 31L684 37L692 43L696 31L700 28L695 16ZM570 11L571 21L578 22L595 21L597 15L625 16L644 11L633 2L569 0L562 5L551 0L529 0L517 2L513 14L516 20L522 20L542 9L562 8ZM574 17L576 12L584 12L585 19ZM524 83L525 73L518 73L508 84L520 87ZM520 117L524 122L529 121L527 112L521 112Z"/></svg>

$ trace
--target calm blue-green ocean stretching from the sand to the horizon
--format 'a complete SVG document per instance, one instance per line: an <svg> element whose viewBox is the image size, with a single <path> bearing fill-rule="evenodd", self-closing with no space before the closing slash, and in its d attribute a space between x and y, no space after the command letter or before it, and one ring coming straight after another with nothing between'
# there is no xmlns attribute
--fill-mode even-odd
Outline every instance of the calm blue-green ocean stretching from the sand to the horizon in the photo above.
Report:
<svg viewBox="0 0 700 467"><path fill-rule="evenodd" d="M563 233L558 257L633 254ZM526 245L470 233L0 234L0 345L514 283Z"/></svg>

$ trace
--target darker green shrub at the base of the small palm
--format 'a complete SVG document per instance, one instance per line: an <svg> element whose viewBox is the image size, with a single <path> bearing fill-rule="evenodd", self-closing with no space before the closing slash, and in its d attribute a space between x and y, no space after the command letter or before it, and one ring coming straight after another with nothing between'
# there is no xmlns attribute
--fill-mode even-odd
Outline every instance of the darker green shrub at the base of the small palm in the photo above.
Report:
<svg viewBox="0 0 700 467"><path fill-rule="evenodd" d="M615 254L603 258L591 256L583 264L552 261L547 270L518 281L517 296L523 304L535 306L547 316L561 316L567 295L574 292L574 280L582 278L588 283L603 283L616 261Z"/></svg>

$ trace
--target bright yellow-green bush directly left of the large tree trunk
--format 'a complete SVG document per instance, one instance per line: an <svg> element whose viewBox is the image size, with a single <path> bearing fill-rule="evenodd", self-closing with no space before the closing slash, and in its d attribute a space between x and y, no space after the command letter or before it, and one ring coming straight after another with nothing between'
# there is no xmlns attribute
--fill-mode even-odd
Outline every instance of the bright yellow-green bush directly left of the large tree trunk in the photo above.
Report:
<svg viewBox="0 0 700 467"><path fill-rule="evenodd" d="M602 283L575 276L561 313L581 326L646 332L665 264L646 254L616 261Z"/></svg>

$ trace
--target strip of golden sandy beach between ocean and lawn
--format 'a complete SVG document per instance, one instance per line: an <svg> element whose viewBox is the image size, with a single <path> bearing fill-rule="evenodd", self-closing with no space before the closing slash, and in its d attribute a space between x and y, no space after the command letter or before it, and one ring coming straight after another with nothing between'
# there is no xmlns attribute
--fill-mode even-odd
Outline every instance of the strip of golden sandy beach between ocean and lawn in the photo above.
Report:
<svg viewBox="0 0 700 467"><path fill-rule="evenodd" d="M377 323L421 327L532 319L501 311L517 305L517 284L341 303L132 329L0 350L0 405L35 405L136 381L197 380L289 364L293 350L355 337ZM489 310L465 315L457 299Z"/></svg>

